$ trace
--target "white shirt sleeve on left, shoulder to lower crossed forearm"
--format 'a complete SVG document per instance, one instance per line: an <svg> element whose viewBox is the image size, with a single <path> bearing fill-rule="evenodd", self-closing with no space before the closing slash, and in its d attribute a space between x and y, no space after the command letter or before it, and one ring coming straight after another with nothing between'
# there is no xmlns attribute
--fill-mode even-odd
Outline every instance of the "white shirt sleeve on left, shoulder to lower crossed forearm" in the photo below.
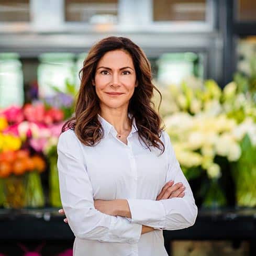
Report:
<svg viewBox="0 0 256 256"><path fill-rule="evenodd" d="M58 172L62 207L74 235L101 242L137 243L142 225L110 216L94 207L93 190L82 153L82 143L71 130L58 142ZM97 161L97 160L95 160Z"/></svg>

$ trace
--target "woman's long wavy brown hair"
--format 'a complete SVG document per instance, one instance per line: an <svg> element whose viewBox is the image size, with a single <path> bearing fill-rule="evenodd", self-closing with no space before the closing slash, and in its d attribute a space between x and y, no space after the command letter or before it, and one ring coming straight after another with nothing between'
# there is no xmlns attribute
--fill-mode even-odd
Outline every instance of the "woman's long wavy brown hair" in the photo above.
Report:
<svg viewBox="0 0 256 256"><path fill-rule="evenodd" d="M162 119L154 110L154 103L151 101L153 90L162 95L157 87L152 84L150 62L142 49L125 37L107 37L94 44L83 62L83 68L79 72L81 80L80 89L77 95L75 116L66 121L62 132L66 129L73 129L79 140L86 146L94 146L103 137L103 129L98 120L100 113L100 101L93 86L98 61L108 51L124 50L128 52L135 66L138 86L130 98L128 112L135 118L138 128L139 139L147 148L153 146L164 152L164 144L160 139ZM82 76L81 76L82 74ZM162 147L161 147L161 146ZM150 149L150 148L149 148Z"/></svg>

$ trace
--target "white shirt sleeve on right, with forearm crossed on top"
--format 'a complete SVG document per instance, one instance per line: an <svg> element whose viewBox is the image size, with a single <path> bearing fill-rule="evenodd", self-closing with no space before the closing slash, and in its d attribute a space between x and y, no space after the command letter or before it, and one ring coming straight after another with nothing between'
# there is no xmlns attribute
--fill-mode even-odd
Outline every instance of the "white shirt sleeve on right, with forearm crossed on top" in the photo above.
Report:
<svg viewBox="0 0 256 256"><path fill-rule="evenodd" d="M197 206L193 193L176 159L168 133L163 131L164 146L168 161L165 182L182 182L185 186L183 197L154 201L150 199L127 199L131 223L139 223L155 229L176 230L193 226L197 217Z"/></svg>

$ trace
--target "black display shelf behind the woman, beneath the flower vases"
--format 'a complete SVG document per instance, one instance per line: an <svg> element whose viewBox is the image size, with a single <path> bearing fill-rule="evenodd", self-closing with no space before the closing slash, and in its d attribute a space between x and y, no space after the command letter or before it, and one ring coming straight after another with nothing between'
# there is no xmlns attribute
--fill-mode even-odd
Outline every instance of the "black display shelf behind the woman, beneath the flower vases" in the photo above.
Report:
<svg viewBox="0 0 256 256"><path fill-rule="evenodd" d="M74 235L57 208L0 209L1 242L68 241ZM256 255L256 208L199 209L195 224L181 230L163 230L170 254L172 240L247 240L250 255Z"/></svg>

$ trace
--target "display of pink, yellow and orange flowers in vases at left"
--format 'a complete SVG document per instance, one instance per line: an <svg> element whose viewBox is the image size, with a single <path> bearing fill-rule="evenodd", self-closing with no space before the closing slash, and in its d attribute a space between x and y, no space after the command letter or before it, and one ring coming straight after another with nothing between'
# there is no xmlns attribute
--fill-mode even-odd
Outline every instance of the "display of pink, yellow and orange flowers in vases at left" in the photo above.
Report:
<svg viewBox="0 0 256 256"><path fill-rule="evenodd" d="M63 110L41 102L1 110L0 205L6 208L45 205L40 173L46 169L46 161L52 162L47 152L52 145L57 146L63 119ZM57 157L54 161L56 165ZM58 172L55 167L50 168L50 177L52 172L55 180L50 179L49 190L56 191L59 186L55 188L52 183L59 183Z"/></svg>

